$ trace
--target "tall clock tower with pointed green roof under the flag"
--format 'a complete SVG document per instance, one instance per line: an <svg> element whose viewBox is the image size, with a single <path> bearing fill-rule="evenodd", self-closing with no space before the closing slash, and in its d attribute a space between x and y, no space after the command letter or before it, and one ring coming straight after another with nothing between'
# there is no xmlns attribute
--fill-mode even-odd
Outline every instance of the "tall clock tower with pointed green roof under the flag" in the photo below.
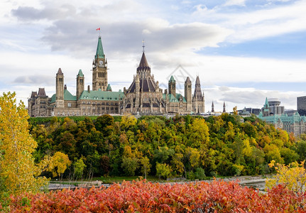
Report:
<svg viewBox="0 0 306 213"><path fill-rule="evenodd" d="M99 36L97 52L92 62L92 90L106 91L107 85L107 60L103 52L101 36Z"/></svg>

